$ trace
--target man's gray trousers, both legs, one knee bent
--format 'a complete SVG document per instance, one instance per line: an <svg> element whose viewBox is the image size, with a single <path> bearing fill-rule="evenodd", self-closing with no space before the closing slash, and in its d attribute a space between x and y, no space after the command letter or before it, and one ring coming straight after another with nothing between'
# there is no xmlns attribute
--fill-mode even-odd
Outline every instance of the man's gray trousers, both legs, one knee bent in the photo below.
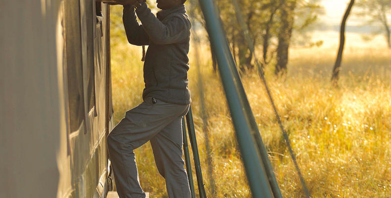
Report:
<svg viewBox="0 0 391 198"><path fill-rule="evenodd" d="M190 198L182 159L182 117L190 105L147 98L126 112L107 137L115 184L120 198L145 198L138 180L134 149L148 141L157 169L166 181L169 198Z"/></svg>

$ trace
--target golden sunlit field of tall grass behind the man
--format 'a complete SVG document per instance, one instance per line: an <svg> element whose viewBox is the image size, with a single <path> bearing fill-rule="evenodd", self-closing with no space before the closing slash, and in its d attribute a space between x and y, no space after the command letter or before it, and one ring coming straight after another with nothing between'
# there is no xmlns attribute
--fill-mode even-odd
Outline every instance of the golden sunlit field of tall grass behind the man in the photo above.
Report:
<svg viewBox="0 0 391 198"><path fill-rule="evenodd" d="M113 7L111 12L112 94L117 123L125 111L142 102L144 80L142 48L127 43L122 8ZM195 57L193 47L191 44L189 88L208 198L250 198L209 45L201 43L199 57ZM330 77L336 50L291 48L284 78L275 77L273 62L266 66L266 78L298 165L313 198L391 198L391 50L377 46L345 48L339 87L334 88ZM196 58L204 85L215 196L209 188ZM250 71L242 81L283 197L304 197L258 74ZM135 153L143 190L152 198L167 198L149 143ZM196 182L194 169L193 174Z"/></svg>

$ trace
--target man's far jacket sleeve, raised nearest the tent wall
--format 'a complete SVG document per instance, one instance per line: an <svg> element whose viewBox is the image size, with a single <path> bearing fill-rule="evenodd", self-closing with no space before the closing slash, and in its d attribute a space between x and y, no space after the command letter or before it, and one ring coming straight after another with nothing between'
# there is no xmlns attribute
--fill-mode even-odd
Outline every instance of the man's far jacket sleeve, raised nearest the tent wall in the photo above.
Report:
<svg viewBox="0 0 391 198"><path fill-rule="evenodd" d="M124 22L126 37L130 44L136 46L149 45L149 37L143 25L137 22L135 8L133 6L124 6L122 21Z"/></svg>

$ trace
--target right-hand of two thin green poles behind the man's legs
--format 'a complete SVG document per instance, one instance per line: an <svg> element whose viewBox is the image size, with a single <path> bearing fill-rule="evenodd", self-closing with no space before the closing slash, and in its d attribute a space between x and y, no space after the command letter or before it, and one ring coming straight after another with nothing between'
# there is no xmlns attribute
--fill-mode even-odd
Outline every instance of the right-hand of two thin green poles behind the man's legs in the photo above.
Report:
<svg viewBox="0 0 391 198"><path fill-rule="evenodd" d="M194 129L192 106L190 106L189 112L186 115L186 123L187 123L188 131L189 131L190 145L192 146L192 150L193 150L194 164L196 166L196 176L197 176L199 197L206 198L205 188L204 188L203 179L202 179L201 164L199 161L199 154L198 154L198 147L197 147L197 140L196 140L196 131Z"/></svg>

